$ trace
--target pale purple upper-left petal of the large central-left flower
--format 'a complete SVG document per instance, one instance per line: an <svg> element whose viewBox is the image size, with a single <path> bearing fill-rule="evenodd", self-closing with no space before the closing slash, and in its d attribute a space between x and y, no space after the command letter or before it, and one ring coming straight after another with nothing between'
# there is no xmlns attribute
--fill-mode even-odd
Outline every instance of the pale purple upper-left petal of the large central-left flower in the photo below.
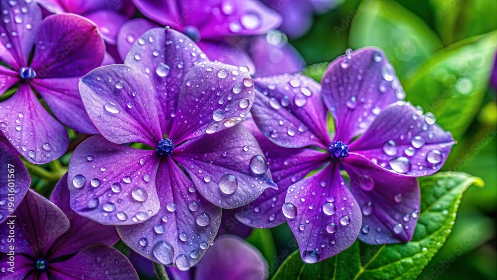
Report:
<svg viewBox="0 0 497 280"><path fill-rule="evenodd" d="M149 79L127 65L99 67L81 79L84 106L100 133L114 143L152 147L162 139Z"/></svg>

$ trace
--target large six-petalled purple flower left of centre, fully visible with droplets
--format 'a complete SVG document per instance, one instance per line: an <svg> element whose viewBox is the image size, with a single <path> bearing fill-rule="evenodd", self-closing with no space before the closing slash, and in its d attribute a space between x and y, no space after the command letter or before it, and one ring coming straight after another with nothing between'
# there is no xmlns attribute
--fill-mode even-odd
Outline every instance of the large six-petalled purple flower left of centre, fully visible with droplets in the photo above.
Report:
<svg viewBox="0 0 497 280"><path fill-rule="evenodd" d="M210 62L175 30L147 31L125 65L91 71L80 91L102 135L73 154L71 206L116 225L155 262L189 269L214 239L221 208L274 186L257 142L236 125L253 103L248 69ZM121 145L132 142L141 144Z"/></svg>

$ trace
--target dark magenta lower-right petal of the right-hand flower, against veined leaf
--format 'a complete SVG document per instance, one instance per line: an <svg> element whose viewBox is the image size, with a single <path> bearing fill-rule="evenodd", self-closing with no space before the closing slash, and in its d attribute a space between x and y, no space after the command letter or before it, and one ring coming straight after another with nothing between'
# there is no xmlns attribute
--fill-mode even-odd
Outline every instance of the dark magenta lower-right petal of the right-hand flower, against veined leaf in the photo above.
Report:
<svg viewBox="0 0 497 280"><path fill-rule="evenodd" d="M408 242L419 215L419 184L397 177L356 154L343 162L362 210L359 239L369 244Z"/></svg>

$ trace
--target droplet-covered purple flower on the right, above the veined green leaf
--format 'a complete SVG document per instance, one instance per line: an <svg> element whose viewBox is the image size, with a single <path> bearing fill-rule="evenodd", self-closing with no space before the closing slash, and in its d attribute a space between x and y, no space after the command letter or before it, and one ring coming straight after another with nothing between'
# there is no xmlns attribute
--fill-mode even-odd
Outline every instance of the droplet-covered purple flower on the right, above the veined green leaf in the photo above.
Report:
<svg viewBox="0 0 497 280"><path fill-rule="evenodd" d="M307 263L357 236L369 244L409 241L419 214L416 177L438 171L454 140L431 113L399 100L405 93L384 53L347 51L328 67L323 89L302 75L254 82L251 112L265 137L256 136L279 189L266 190L237 218L253 227L286 219Z"/></svg>

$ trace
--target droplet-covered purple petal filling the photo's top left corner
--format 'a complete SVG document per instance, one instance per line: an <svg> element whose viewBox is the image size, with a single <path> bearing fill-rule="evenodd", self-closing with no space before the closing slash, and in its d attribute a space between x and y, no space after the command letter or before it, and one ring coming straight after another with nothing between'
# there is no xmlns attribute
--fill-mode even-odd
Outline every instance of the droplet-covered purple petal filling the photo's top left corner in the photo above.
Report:
<svg viewBox="0 0 497 280"><path fill-rule="evenodd" d="M14 69L26 66L41 22L41 9L34 1L0 1L0 57Z"/></svg>

